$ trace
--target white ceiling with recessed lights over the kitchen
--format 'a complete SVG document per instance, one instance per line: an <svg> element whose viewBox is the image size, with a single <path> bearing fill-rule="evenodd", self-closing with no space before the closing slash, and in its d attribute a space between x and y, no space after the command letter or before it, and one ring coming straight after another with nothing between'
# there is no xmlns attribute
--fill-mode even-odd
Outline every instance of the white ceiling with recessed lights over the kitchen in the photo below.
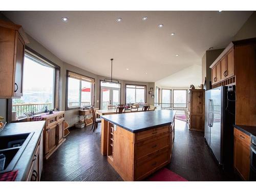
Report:
<svg viewBox="0 0 256 192"><path fill-rule="evenodd" d="M22 25L40 44L71 65L98 75L110 76L110 58L114 58L114 78L155 82L185 68L201 65L205 50L209 47L218 49L227 46L252 12L3 13L14 23ZM67 16L69 22L62 22L63 16ZM147 16L147 20L143 21L143 16ZM122 22L117 23L117 17L122 17ZM164 27L160 29L158 24L163 24ZM176 35L171 36L172 32ZM176 57L176 54L180 56ZM182 77L187 74L180 75Z"/></svg>

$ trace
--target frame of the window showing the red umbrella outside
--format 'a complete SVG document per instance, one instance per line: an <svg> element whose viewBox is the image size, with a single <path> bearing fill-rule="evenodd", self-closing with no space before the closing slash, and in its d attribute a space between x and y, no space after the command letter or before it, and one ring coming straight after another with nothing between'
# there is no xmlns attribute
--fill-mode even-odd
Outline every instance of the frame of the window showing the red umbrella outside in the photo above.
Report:
<svg viewBox="0 0 256 192"><path fill-rule="evenodd" d="M76 73L76 72L70 71L70 70L67 70L67 73L66 73L66 111L80 109L80 106L77 106L77 107L75 107L75 108L69 108L69 107L68 107L69 72ZM76 74L82 75L82 74L80 74L80 73L76 73ZM82 76L89 77L89 76L87 76L87 75L82 75ZM89 77L89 78L94 79L94 82L95 82L95 78L93 78L93 77ZM80 80L80 81L81 81L81 80ZM81 86L81 82L80 82L80 86ZM79 98L81 98L81 95L80 95ZM92 83L92 93L91 93L91 105L92 105L92 106L94 106L94 104L95 104L95 103L94 103L94 100L95 100L94 98L95 98L95 83Z"/></svg>

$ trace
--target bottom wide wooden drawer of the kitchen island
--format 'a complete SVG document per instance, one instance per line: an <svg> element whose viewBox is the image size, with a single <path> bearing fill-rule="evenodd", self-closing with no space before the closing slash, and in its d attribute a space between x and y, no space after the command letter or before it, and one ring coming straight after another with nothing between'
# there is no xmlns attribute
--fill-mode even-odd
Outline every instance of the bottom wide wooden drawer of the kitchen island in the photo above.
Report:
<svg viewBox="0 0 256 192"><path fill-rule="evenodd" d="M159 166L168 163L169 160L169 148L166 147L160 150L154 155L143 158L143 160L137 160L135 168L135 180L141 180L145 176L154 172Z"/></svg>

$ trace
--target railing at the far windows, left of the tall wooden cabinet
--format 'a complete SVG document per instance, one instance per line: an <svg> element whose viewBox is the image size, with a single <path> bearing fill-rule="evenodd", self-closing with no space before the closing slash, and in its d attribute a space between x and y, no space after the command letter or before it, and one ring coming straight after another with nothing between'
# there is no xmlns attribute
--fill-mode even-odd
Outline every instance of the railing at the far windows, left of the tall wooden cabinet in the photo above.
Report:
<svg viewBox="0 0 256 192"><path fill-rule="evenodd" d="M154 103L156 110L176 110L176 114L185 114L188 103Z"/></svg>

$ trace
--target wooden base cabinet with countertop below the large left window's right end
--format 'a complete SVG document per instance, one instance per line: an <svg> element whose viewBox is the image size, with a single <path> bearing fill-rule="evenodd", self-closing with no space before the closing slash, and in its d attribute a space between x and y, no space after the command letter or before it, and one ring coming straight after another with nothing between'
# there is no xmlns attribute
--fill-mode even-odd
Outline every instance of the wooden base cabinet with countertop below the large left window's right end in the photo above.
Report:
<svg viewBox="0 0 256 192"><path fill-rule="evenodd" d="M57 148L66 140L68 123L65 121L64 111L54 111L53 114L43 113L31 117L30 121L45 120L44 127L44 158L48 159Z"/></svg>

